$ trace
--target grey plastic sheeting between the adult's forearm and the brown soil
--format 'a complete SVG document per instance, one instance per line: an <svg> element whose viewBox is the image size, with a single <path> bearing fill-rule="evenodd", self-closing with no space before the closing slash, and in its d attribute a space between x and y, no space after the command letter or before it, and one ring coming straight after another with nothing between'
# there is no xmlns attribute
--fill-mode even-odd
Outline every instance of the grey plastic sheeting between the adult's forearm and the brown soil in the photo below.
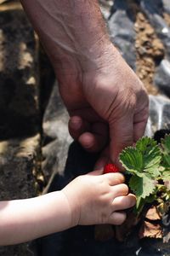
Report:
<svg viewBox="0 0 170 256"><path fill-rule="evenodd" d="M115 1L112 14L108 20L111 41L120 49L123 58L135 70L135 32L133 15L130 13L127 1Z"/></svg>

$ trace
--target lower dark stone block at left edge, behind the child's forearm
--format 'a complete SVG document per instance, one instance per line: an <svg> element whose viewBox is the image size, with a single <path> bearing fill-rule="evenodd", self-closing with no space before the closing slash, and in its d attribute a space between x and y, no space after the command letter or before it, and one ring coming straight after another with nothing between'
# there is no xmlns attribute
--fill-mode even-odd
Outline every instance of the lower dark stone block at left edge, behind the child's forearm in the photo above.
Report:
<svg viewBox="0 0 170 256"><path fill-rule="evenodd" d="M39 153L39 135L0 142L0 200L36 196L33 170ZM31 256L28 243L0 247L0 255Z"/></svg>

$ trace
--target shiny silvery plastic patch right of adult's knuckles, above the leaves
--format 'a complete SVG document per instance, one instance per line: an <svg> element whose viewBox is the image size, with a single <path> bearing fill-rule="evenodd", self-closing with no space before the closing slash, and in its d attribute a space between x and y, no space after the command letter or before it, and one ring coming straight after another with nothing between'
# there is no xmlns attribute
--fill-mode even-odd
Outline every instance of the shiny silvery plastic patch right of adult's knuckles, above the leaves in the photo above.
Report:
<svg viewBox="0 0 170 256"><path fill-rule="evenodd" d="M170 100L166 96L150 95L150 117L145 136L153 137L156 131L170 129Z"/></svg>

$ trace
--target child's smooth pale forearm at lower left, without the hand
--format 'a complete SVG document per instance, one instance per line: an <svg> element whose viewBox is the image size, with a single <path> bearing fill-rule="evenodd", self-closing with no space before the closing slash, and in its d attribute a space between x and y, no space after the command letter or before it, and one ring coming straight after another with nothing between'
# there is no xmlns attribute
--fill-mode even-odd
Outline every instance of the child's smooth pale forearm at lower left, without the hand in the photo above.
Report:
<svg viewBox="0 0 170 256"><path fill-rule="evenodd" d="M30 241L71 227L71 209L62 192L0 202L0 245Z"/></svg>

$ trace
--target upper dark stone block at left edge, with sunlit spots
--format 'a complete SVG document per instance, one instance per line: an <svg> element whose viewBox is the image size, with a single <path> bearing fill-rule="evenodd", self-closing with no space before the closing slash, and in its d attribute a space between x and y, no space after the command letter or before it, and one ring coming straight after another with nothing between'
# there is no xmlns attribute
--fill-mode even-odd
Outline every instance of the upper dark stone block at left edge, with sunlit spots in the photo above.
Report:
<svg viewBox="0 0 170 256"><path fill-rule="evenodd" d="M0 9L0 99L0 138L37 133L37 43L24 11L15 5Z"/></svg>

